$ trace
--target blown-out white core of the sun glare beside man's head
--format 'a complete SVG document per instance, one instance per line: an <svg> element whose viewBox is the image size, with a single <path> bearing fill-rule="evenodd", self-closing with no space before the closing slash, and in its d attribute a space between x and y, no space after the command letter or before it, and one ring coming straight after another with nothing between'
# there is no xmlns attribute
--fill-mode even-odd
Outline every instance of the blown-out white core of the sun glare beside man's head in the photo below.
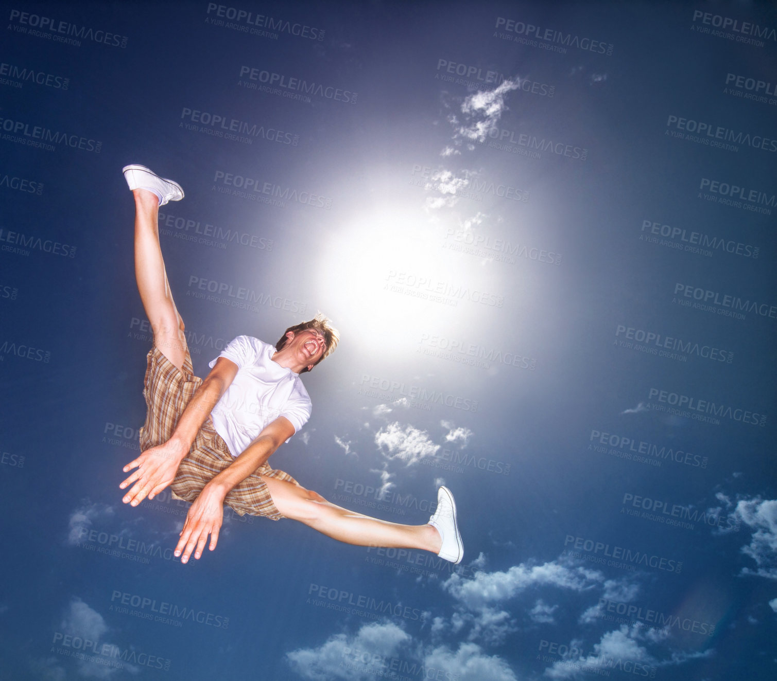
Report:
<svg viewBox="0 0 777 681"><path fill-rule="evenodd" d="M459 254L444 248L446 230L456 224L449 214L428 213L415 197L406 206L365 210L329 241L324 293L368 351L409 347L422 333L468 324L473 306L455 292L471 277L462 273Z"/></svg>

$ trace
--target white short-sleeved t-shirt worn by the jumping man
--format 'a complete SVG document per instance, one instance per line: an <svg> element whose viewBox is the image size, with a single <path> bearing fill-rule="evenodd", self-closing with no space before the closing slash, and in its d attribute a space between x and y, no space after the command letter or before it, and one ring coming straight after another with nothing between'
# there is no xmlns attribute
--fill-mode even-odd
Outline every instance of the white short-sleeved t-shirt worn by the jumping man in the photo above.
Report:
<svg viewBox="0 0 777 681"><path fill-rule="evenodd" d="M233 457L246 450L279 416L291 421L295 433L310 418L311 402L299 374L274 362L274 353L274 346L250 335L239 335L218 356L238 365L235 380L211 412L216 433ZM216 360L208 364L211 369Z"/></svg>

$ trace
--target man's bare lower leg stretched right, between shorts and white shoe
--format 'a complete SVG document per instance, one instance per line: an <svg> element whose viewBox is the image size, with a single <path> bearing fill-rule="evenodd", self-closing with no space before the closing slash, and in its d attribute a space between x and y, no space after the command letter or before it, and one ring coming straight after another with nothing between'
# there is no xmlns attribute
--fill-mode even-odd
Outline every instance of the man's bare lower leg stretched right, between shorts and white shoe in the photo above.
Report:
<svg viewBox="0 0 777 681"><path fill-rule="evenodd" d="M262 480L280 513L327 537L357 546L418 548L435 554L440 551L440 533L431 525L389 523L343 509L318 493L291 482L266 476L262 476Z"/></svg>

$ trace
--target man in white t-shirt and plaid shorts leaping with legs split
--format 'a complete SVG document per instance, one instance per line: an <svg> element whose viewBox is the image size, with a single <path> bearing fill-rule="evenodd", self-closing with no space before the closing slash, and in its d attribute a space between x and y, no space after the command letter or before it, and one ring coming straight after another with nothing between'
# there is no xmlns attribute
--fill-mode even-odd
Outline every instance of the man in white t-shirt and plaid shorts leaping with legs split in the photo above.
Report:
<svg viewBox="0 0 777 681"><path fill-rule="evenodd" d="M321 314L287 328L275 346L240 335L211 361L204 380L194 376L157 224L159 207L183 199L183 189L142 165L127 165L124 178L135 200L135 277L154 332L141 455L124 467L136 469L119 485L132 485L124 503L138 506L168 485L191 502L175 551L184 563L192 552L200 558L208 535L214 550L224 504L241 516L299 520L347 544L423 549L460 562L464 547L448 488L439 489L429 523L400 525L335 506L267 464L310 417L299 374L333 353L339 336Z"/></svg>

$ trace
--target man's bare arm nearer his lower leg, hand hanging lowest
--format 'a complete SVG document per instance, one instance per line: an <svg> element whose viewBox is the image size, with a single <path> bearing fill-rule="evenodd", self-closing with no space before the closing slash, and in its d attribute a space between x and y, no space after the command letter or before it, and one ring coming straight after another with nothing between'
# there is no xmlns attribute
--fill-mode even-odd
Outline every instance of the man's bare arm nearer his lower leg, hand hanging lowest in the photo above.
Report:
<svg viewBox="0 0 777 681"><path fill-rule="evenodd" d="M186 514L186 523L183 524L181 538L176 545L176 556L183 551L182 563L189 560L192 551L194 558L200 558L208 534L211 535L209 548L214 550L218 544L218 530L221 529L224 515L222 507L228 492L256 471L292 435L294 426L291 421L285 416L279 416L264 427L256 436L256 440L253 440L239 457L235 457L232 464L202 488Z"/></svg>

